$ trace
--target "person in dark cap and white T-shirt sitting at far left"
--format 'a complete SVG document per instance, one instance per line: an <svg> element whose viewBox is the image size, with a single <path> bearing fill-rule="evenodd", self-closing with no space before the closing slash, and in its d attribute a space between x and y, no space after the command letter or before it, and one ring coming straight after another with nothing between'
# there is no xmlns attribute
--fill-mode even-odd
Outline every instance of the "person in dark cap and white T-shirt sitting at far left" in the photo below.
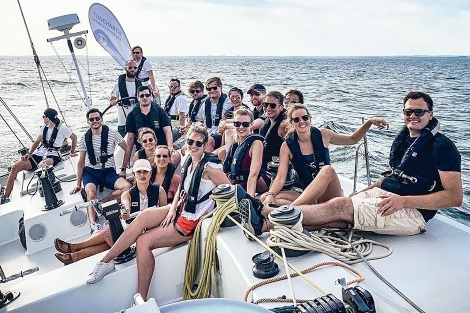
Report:
<svg viewBox="0 0 470 313"><path fill-rule="evenodd" d="M10 201L10 194L13 190L16 175L22 170L31 170L41 167L43 164L43 156L47 155L46 164L56 165L60 160L60 149L64 140L67 138L72 139L72 146L70 150L70 156L76 156L75 146L77 145L77 136L71 131L70 128L63 125L57 118L57 111L48 108L42 115L44 124L42 125L41 132L32 143L29 152L21 157L21 160L17 161L11 167L8 175L7 188L5 189L5 196L2 199L2 203Z"/></svg>

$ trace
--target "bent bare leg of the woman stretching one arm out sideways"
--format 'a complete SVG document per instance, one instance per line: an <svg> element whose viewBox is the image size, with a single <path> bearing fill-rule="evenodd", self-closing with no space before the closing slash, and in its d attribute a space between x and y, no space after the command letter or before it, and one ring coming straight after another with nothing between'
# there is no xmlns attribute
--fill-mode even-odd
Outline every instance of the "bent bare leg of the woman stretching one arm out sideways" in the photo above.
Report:
<svg viewBox="0 0 470 313"><path fill-rule="evenodd" d="M335 169L330 165L321 168L318 175L305 188L304 192L292 201L293 206L313 204L315 201L324 202L334 197L341 197L341 184Z"/></svg>

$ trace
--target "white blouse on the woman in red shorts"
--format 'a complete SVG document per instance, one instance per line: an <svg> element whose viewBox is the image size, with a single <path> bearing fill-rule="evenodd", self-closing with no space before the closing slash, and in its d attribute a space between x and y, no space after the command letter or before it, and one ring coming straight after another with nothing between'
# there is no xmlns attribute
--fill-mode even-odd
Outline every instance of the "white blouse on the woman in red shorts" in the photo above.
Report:
<svg viewBox="0 0 470 313"><path fill-rule="evenodd" d="M215 169L220 168L220 169L222 169L222 164L207 162L204 165L203 174L204 174L204 172L206 170L206 167L208 165L211 168L215 168ZM189 190L189 186L191 184L191 179L192 179L193 175L194 175L194 168L186 176L186 179L184 181L184 189L185 190ZM201 177L201 183L199 185L199 191L197 192L197 199L202 198L206 193L208 193L209 191L214 189L216 186L217 185L215 183L213 183L210 179L204 179L204 178ZM182 199L180 199L179 202L178 202L178 207L180 206L181 200ZM203 202L196 205L195 213L189 213L189 212L183 210L183 212L181 212L180 216L185 217L186 219L188 219L190 221L197 221L198 219L203 217L205 214L208 214L209 212L211 212L214 209L214 203L215 203L214 200L209 198L209 199L207 199L207 200L205 200L205 201L203 201Z"/></svg>

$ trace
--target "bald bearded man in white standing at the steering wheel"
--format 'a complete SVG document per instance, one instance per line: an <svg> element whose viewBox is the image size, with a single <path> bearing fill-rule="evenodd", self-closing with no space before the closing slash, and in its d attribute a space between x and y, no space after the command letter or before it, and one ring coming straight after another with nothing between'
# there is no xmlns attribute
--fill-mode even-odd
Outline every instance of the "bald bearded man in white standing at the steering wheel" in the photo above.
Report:
<svg viewBox="0 0 470 313"><path fill-rule="evenodd" d="M128 60L125 62L125 74L118 78L118 82L114 85L111 91L110 105L115 106L118 104L119 99L127 97L137 97L137 89L142 83L135 79L135 72L137 70L137 62ZM131 113L135 107L136 99L124 99L118 107L118 132L122 137L125 136L125 121L127 115Z"/></svg>

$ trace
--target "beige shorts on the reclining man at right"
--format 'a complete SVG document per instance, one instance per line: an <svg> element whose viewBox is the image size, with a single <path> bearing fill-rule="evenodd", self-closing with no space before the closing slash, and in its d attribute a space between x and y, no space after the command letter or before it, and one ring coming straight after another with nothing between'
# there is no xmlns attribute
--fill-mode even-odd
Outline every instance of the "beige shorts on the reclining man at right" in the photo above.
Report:
<svg viewBox="0 0 470 313"><path fill-rule="evenodd" d="M351 197L354 208L354 229L373 231L377 234L411 236L426 231L423 215L415 208L404 208L393 214L377 214L380 195L392 192L374 187Z"/></svg>

